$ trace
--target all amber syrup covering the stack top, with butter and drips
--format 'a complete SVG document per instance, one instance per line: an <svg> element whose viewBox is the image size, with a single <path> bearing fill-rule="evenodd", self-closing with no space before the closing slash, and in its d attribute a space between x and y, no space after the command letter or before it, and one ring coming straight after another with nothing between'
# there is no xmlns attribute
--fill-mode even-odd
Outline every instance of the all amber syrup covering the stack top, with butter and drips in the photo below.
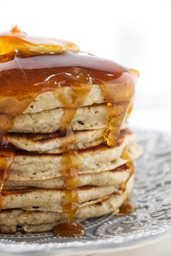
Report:
<svg viewBox="0 0 171 256"><path fill-rule="evenodd" d="M54 228L55 236L84 234L83 228L74 222L79 207L77 186L81 160L75 148L72 120L92 84L99 84L104 93L108 110L104 141L114 146L134 94L133 76L127 69L112 61L83 54L78 46L69 42L30 38L16 26L0 35L1 189L15 155L15 149L11 149L8 142L14 118L45 91L53 91L64 106L60 132L67 137L67 143L62 145L63 212L67 222ZM63 93L64 86L71 87L70 94Z"/></svg>

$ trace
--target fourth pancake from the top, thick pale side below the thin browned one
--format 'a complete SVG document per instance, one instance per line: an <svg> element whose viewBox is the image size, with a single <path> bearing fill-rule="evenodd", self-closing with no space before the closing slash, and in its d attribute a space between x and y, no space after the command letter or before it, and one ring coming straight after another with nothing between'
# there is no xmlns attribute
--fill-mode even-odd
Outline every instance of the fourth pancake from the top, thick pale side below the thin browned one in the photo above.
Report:
<svg viewBox="0 0 171 256"><path fill-rule="evenodd" d="M120 140L113 147L103 144L91 149L80 150L73 161L79 161L78 174L98 173L112 170L124 165L128 160L122 159L122 151L128 147L133 159L141 153L141 148L135 144L135 136L130 131L122 131ZM67 168L64 164L66 154L32 154L17 152L9 172L9 180L44 180L62 176L62 170Z"/></svg>

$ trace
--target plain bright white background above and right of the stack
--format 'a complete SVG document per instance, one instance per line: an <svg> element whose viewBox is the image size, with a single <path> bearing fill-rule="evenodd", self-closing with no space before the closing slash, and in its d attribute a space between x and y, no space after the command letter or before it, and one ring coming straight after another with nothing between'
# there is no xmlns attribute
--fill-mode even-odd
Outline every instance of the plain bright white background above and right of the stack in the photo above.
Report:
<svg viewBox="0 0 171 256"><path fill-rule="evenodd" d="M0 0L0 31L14 24L139 70L131 125L171 133L170 0Z"/></svg>

